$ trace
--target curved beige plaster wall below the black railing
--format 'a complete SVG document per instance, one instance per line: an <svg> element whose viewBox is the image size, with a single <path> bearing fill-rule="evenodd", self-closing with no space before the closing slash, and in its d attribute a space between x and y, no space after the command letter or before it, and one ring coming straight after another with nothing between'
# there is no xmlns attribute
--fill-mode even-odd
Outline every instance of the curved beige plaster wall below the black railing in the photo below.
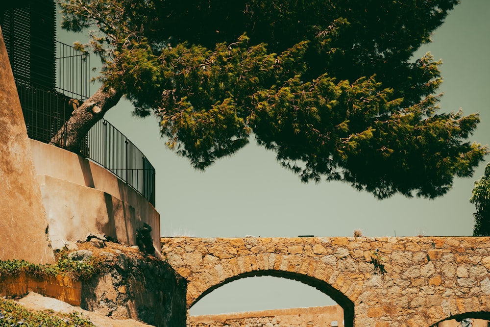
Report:
<svg viewBox="0 0 490 327"><path fill-rule="evenodd" d="M30 145L54 249L89 233L135 245L136 229L147 223L160 252L160 215L143 196L86 158L35 140Z"/></svg>

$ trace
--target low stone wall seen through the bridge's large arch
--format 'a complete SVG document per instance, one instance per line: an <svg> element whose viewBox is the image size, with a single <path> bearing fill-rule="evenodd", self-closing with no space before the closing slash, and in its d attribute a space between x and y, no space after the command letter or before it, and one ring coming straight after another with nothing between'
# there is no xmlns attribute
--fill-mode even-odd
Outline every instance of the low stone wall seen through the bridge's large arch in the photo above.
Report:
<svg viewBox="0 0 490 327"><path fill-rule="evenodd" d="M191 316L188 327L343 327L339 305Z"/></svg>

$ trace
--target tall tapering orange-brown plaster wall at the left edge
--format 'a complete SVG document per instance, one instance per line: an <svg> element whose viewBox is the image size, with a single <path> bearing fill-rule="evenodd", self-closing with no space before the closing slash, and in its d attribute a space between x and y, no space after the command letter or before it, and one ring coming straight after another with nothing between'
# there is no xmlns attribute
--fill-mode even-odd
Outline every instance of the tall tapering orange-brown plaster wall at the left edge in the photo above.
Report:
<svg viewBox="0 0 490 327"><path fill-rule="evenodd" d="M0 259L54 261L24 116L0 30Z"/></svg>

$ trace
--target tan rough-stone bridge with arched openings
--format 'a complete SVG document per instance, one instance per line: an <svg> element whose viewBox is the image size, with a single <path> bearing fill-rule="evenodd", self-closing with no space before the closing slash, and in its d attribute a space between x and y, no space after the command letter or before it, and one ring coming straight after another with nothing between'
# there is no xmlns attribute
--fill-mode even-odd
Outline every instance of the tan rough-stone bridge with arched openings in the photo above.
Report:
<svg viewBox="0 0 490 327"><path fill-rule="evenodd" d="M187 307L250 276L294 279L325 293L348 327L430 327L490 320L488 237L162 238L187 280Z"/></svg>

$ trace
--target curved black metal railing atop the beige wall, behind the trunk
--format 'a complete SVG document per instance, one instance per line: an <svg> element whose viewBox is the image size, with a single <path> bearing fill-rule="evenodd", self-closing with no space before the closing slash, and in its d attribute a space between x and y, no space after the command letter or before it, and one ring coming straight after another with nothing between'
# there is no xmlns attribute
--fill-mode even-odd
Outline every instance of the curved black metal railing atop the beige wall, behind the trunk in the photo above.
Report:
<svg viewBox="0 0 490 327"><path fill-rule="evenodd" d="M70 98L16 81L29 138L50 143L70 118ZM63 148L66 139L58 144ZM155 168L126 136L105 119L98 121L78 145L79 154L122 179L155 205Z"/></svg>

